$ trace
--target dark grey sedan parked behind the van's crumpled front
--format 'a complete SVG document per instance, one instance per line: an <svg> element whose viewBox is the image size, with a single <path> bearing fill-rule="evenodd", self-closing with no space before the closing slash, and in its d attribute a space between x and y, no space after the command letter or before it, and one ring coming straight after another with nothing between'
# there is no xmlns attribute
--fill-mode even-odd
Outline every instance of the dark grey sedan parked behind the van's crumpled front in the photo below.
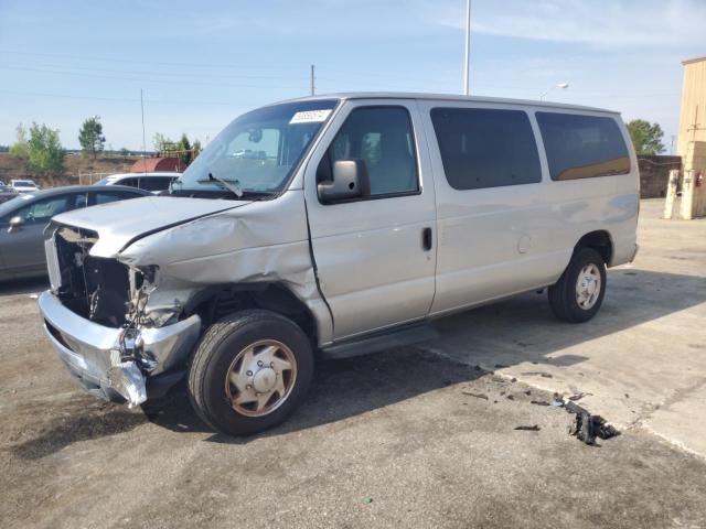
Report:
<svg viewBox="0 0 706 529"><path fill-rule="evenodd" d="M54 215L140 196L150 193L74 185L21 194L0 205L0 281L46 274L43 231Z"/></svg>

